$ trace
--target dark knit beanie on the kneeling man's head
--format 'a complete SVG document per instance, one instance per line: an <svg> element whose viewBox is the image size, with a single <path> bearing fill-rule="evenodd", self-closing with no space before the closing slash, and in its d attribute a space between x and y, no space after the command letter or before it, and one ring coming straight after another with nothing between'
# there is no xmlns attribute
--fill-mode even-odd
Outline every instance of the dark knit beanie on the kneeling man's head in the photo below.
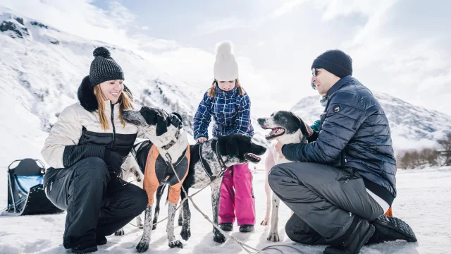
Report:
<svg viewBox="0 0 451 254"><path fill-rule="evenodd" d="M339 78L343 78L352 75L352 59L351 56L339 49L328 50L316 57L311 68L323 68Z"/></svg>

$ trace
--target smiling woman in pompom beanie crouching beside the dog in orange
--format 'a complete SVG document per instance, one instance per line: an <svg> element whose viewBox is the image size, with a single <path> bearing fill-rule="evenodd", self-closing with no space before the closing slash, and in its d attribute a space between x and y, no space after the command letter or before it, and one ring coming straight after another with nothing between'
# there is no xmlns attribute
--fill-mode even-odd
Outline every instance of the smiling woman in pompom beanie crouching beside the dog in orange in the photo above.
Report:
<svg viewBox="0 0 451 254"><path fill-rule="evenodd" d="M122 118L132 109L121 66L108 49L94 50L89 76L78 88L79 104L64 109L45 140L42 156L49 200L67 211L64 248L97 251L105 236L141 214L146 193L118 178L138 130Z"/></svg>

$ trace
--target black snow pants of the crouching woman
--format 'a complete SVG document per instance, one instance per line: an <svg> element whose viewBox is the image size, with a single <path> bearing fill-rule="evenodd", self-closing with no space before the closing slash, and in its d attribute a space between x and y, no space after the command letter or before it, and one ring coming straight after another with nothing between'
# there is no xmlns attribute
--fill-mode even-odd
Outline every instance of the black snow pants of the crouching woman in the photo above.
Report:
<svg viewBox="0 0 451 254"><path fill-rule="evenodd" d="M83 238L109 236L121 229L147 206L141 188L110 175L98 157L80 160L66 169L47 169L47 198L66 210L64 248L73 248Z"/></svg>

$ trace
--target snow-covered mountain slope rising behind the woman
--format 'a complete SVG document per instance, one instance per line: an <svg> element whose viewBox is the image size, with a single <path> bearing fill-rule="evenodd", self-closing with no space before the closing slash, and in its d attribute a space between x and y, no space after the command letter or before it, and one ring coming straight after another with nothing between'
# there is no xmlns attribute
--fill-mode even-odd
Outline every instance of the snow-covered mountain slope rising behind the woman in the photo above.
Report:
<svg viewBox="0 0 451 254"><path fill-rule="evenodd" d="M108 48L123 68L124 83L137 107L177 111L192 135L192 118L205 91L168 75L135 52L85 40L1 9L0 44L0 100L4 109L0 116L7 120L0 124L0 133L8 133L7 142L1 144L1 150L6 151L0 155L1 162L22 159L16 158L18 154L41 158L40 149L58 114L78 102L78 86L89 74L92 52L99 46ZM254 128L254 139L267 144L263 130L257 124ZM194 143L192 136L190 142Z"/></svg>

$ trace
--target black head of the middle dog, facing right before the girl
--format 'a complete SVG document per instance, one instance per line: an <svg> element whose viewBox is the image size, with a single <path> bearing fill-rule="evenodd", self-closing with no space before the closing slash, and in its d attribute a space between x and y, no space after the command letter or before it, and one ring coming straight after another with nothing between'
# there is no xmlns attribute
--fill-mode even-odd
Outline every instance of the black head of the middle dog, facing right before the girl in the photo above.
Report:
<svg viewBox="0 0 451 254"><path fill-rule="evenodd" d="M237 159L237 163L259 163L261 158L259 155L264 155L266 148L252 142L248 135L231 134L218 137L218 149L222 156L232 157ZM233 159L229 159L233 160Z"/></svg>

